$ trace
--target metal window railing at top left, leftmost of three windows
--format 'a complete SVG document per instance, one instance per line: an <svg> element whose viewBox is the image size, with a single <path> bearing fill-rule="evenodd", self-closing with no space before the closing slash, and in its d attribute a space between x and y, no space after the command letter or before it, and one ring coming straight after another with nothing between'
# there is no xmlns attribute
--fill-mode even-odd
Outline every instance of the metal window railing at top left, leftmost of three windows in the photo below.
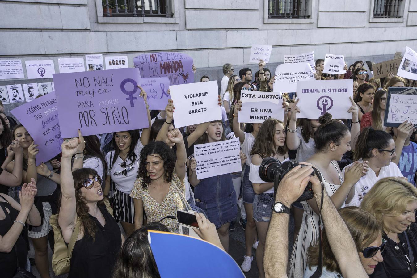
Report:
<svg viewBox="0 0 417 278"><path fill-rule="evenodd" d="M102 0L104 16L172 18L171 0Z"/></svg>

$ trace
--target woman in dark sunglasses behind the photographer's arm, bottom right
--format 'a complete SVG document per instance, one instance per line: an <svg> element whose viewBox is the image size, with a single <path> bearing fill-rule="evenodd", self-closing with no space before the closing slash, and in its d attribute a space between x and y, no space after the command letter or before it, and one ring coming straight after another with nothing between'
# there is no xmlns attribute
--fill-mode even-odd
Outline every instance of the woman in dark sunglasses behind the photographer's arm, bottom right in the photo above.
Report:
<svg viewBox="0 0 417 278"><path fill-rule="evenodd" d="M381 235L381 222L371 213L357 207L341 208L339 213L352 235L363 268L368 275L371 275L374 273L375 266L382 262L381 253L384 250L385 243L387 242ZM322 246L323 273L321 277L342 278L339 265L334 258L332 249L330 248L325 229L322 230ZM307 255L308 267L304 273L304 278L309 278L317 270L320 258L319 245L317 243L312 243L307 250Z"/></svg>

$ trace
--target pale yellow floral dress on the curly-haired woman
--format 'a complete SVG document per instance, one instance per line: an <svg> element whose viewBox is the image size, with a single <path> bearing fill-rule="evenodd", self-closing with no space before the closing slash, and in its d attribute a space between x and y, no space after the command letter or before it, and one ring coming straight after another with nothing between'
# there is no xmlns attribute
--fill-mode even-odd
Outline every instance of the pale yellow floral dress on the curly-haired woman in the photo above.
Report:
<svg viewBox="0 0 417 278"><path fill-rule="evenodd" d="M166 193L165 198L163 198L162 203L160 204L154 198L152 198L151 195L149 195L148 188L142 188L142 178L138 178L135 181L135 185L133 185L130 196L132 198L142 200L143 209L146 212L148 223L158 222L162 218L169 215L176 216L177 210L184 210L184 204L180 195L178 194L178 190L174 186L174 183L181 191L181 193L185 195L184 180L181 181L174 170L168 193ZM170 232L179 233L177 220L166 218L162 220L161 223L166 225Z"/></svg>

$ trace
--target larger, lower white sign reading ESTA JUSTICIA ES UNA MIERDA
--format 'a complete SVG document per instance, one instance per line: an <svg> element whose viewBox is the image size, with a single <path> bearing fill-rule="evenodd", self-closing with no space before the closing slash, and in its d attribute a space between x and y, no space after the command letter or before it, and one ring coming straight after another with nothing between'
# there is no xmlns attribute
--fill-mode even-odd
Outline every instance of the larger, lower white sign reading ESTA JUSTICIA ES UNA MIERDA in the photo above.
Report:
<svg viewBox="0 0 417 278"><path fill-rule="evenodd" d="M269 118L284 119L281 93L241 90L242 110L237 114L239 123L263 123Z"/></svg>

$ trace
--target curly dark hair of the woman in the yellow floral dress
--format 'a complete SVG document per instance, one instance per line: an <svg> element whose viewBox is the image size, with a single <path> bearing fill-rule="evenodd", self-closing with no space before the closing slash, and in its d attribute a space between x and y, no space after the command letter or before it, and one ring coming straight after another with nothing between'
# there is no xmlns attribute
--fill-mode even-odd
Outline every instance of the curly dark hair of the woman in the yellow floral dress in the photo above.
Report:
<svg viewBox="0 0 417 278"><path fill-rule="evenodd" d="M165 182L171 183L175 162L177 160L176 154L165 142L151 141L148 145L143 147L141 154L139 155L139 170L137 178L142 178L142 188L148 188L148 184L151 183L148 170L146 170L146 158L148 158L148 155L158 155L162 159Z"/></svg>

